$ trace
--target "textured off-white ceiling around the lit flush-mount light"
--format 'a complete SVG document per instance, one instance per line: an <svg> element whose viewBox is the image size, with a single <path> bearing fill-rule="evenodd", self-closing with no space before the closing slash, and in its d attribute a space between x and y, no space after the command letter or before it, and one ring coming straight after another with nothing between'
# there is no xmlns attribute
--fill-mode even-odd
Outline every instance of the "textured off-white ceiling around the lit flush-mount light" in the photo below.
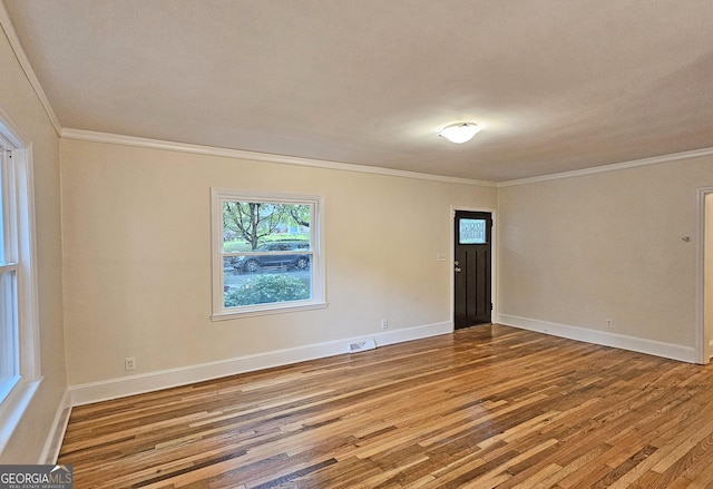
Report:
<svg viewBox="0 0 713 489"><path fill-rule="evenodd" d="M711 0L4 3L62 128L490 182L713 147Z"/></svg>

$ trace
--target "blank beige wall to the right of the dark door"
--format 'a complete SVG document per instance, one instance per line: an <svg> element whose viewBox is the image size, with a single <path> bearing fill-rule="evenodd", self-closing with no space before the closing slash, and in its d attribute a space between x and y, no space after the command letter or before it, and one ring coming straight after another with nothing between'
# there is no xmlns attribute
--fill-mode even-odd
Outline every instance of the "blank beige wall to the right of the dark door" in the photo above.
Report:
<svg viewBox="0 0 713 489"><path fill-rule="evenodd" d="M710 185L703 157L500 188L499 312L694 348Z"/></svg>

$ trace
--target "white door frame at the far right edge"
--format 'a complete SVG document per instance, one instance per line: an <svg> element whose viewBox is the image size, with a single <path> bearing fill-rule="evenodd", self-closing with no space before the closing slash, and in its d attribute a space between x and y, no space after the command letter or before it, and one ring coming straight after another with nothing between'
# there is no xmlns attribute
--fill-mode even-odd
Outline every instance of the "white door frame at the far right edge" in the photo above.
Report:
<svg viewBox="0 0 713 489"><path fill-rule="evenodd" d="M713 216L706 216L705 199L713 195L713 187L702 187L696 190L696 263L695 263L695 353L696 361L706 364L711 361L705 331L705 233L706 221L713 222ZM711 232L711 229L709 229ZM709 250L709 260L713 260L713 250ZM707 291L712 294L713 291ZM713 314L713 311L709 311ZM713 335L711 338L713 340Z"/></svg>

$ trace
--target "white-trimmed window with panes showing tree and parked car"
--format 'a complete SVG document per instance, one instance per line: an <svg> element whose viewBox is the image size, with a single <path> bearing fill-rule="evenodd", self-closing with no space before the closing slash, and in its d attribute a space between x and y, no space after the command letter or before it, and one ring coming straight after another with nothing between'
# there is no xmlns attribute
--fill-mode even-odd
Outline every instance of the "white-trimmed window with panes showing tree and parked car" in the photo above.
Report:
<svg viewBox="0 0 713 489"><path fill-rule="evenodd" d="M212 189L213 319L325 306L322 198Z"/></svg>

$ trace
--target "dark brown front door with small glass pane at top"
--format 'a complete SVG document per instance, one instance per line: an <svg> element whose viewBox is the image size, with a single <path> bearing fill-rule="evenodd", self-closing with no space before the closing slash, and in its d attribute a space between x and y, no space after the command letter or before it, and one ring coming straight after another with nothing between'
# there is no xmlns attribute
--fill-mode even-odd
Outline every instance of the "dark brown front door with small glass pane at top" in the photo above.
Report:
<svg viewBox="0 0 713 489"><path fill-rule="evenodd" d="M456 329L490 323L490 213L456 211L453 276Z"/></svg>

